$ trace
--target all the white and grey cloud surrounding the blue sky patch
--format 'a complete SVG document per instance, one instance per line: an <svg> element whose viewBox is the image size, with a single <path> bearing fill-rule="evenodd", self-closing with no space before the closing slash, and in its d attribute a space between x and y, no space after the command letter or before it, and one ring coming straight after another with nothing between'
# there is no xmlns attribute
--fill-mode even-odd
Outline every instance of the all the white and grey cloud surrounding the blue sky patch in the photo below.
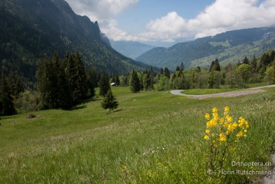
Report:
<svg viewBox="0 0 275 184"><path fill-rule="evenodd" d="M115 16L136 6L139 0L67 0L78 14L98 20L109 39L173 42L183 37L206 37L228 30L275 25L275 0L216 0L195 19L186 20L177 12L151 20L146 30L131 34L119 28Z"/></svg>

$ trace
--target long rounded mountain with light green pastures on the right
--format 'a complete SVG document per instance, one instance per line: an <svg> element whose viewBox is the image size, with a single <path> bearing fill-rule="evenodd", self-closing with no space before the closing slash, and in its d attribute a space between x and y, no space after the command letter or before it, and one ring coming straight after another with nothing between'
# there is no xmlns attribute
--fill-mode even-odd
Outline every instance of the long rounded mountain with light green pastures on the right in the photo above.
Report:
<svg viewBox="0 0 275 184"><path fill-rule="evenodd" d="M275 28L250 28L177 43L170 48L153 48L135 60L175 70L181 62L185 68L209 67L215 59L226 65L236 63L245 56L251 59L254 55L259 57L274 48Z"/></svg>

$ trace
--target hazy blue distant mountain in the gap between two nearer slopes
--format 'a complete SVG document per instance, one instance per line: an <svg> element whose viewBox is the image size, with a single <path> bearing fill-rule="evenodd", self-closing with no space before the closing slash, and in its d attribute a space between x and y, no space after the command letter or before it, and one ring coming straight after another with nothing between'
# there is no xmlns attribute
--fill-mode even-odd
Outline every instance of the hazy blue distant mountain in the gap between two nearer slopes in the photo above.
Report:
<svg viewBox="0 0 275 184"><path fill-rule="evenodd" d="M112 41L111 46L116 51L120 52L126 57L130 57L131 59L135 59L144 52L155 48L155 46L147 45L144 43L140 43L137 41Z"/></svg>

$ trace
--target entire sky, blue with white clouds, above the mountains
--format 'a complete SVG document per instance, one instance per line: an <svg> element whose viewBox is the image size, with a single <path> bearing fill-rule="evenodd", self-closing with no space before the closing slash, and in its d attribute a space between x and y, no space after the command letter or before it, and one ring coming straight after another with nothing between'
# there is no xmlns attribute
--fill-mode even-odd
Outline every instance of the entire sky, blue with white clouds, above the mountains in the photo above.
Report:
<svg viewBox="0 0 275 184"><path fill-rule="evenodd" d="M275 0L66 0L114 41L173 45L275 25Z"/></svg>

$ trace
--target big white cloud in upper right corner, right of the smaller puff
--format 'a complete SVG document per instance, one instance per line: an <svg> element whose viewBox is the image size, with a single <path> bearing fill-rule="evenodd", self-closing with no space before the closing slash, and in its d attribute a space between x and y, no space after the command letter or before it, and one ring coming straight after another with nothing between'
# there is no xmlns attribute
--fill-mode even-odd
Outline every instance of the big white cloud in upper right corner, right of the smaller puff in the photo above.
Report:
<svg viewBox="0 0 275 184"><path fill-rule="evenodd" d="M195 19L188 20L186 30L195 37L214 35L226 30L261 27L275 23L275 1L264 1L257 6L256 0L217 0Z"/></svg>

